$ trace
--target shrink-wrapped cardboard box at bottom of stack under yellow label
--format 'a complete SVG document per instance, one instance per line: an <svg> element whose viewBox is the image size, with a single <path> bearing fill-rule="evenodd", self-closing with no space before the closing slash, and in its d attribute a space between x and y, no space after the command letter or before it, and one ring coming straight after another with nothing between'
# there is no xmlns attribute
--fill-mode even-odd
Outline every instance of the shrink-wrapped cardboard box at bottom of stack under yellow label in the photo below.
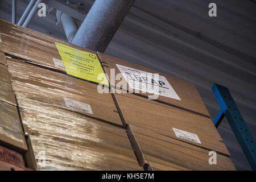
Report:
<svg viewBox="0 0 256 182"><path fill-rule="evenodd" d="M23 98L24 129L39 170L142 170L126 130L72 111Z"/></svg>

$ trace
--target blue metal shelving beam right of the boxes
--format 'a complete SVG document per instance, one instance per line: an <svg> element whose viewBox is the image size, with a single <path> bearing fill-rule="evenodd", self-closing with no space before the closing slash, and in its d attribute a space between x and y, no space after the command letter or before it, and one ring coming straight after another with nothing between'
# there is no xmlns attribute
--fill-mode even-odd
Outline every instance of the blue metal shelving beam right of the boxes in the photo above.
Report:
<svg viewBox="0 0 256 182"><path fill-rule="evenodd" d="M251 135L249 128L247 127L245 120L242 117L236 103L234 102L228 88L224 86L214 84L212 91L217 98L218 104L221 106L220 112L214 119L213 123L216 127L220 125L220 122L224 117L228 119L234 134L240 146L253 170L256 170L256 144Z"/></svg>

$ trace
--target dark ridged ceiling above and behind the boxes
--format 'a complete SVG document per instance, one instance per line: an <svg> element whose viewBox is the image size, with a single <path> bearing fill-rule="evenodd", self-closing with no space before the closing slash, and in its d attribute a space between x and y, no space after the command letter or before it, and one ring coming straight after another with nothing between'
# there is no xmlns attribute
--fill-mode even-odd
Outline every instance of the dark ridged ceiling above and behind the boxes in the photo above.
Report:
<svg viewBox="0 0 256 182"><path fill-rule="evenodd" d="M18 19L29 1L17 1ZM56 2L52 3L52 2ZM93 1L46 1L80 24ZM210 2L217 17L208 16ZM64 5L64 6L60 6ZM79 6L77 6L79 5ZM67 40L55 9L30 26ZM212 119L220 106L211 87L229 88L256 138L256 3L250 0L136 0L105 53L193 82ZM11 21L11 1L0 1L0 18ZM251 169L226 119L218 127L237 169Z"/></svg>

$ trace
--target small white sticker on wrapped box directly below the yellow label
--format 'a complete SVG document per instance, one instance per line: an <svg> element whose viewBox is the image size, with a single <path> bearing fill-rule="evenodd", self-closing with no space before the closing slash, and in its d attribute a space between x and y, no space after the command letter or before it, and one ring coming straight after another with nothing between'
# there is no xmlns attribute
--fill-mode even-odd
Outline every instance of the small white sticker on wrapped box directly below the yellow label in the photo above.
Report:
<svg viewBox="0 0 256 182"><path fill-rule="evenodd" d="M85 113L93 114L92 108L90 108L89 104L85 104L79 101L74 101L69 98L64 97L64 101L67 107L71 107L72 109L84 111Z"/></svg>

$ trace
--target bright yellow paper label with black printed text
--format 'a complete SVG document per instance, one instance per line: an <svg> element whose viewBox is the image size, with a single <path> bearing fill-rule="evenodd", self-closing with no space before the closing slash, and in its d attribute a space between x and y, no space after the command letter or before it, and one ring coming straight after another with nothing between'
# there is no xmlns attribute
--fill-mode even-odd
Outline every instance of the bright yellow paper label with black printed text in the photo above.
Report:
<svg viewBox="0 0 256 182"><path fill-rule="evenodd" d="M55 43L55 45L68 75L109 85L96 54L81 51L60 43Z"/></svg>

